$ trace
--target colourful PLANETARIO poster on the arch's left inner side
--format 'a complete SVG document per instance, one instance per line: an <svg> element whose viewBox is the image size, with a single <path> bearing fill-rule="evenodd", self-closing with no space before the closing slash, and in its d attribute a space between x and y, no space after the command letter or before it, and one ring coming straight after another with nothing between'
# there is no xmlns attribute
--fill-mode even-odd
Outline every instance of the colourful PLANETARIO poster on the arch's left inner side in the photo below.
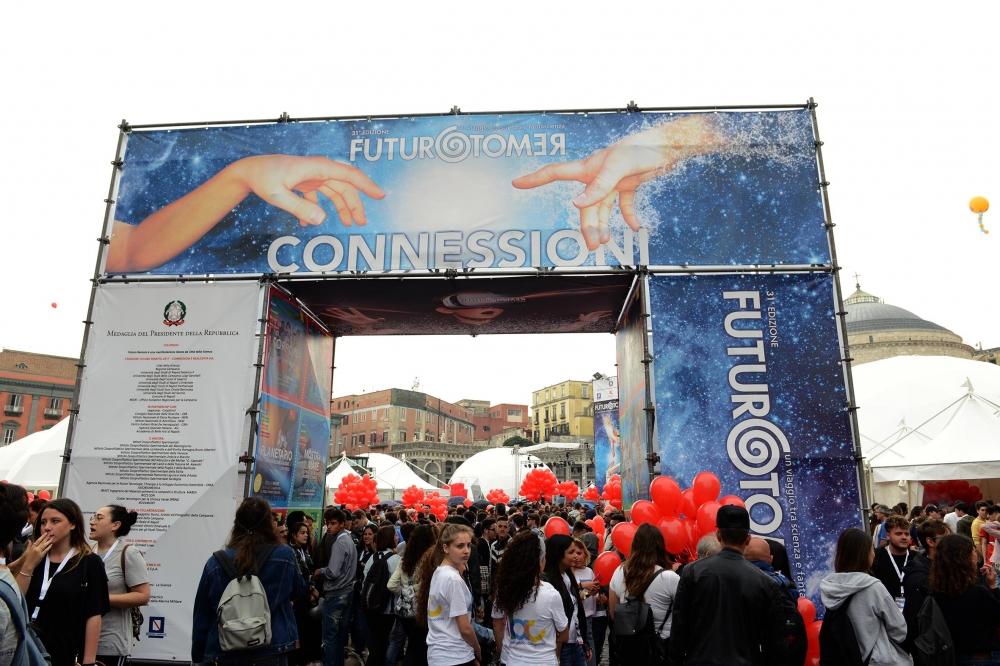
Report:
<svg viewBox="0 0 1000 666"><path fill-rule="evenodd" d="M252 493L321 525L330 454L333 337L283 291L268 296Z"/></svg>

